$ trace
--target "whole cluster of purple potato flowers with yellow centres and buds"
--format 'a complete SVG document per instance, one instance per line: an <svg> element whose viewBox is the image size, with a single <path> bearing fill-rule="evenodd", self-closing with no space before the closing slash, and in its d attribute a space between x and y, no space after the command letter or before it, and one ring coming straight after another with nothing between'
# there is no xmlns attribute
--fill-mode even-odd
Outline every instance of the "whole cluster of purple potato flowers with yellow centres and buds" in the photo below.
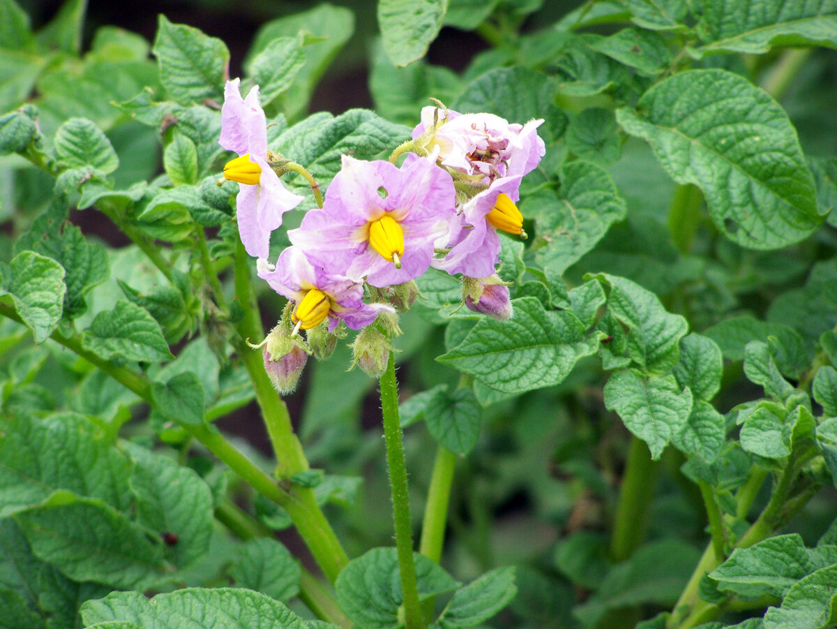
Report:
<svg viewBox="0 0 837 629"><path fill-rule="evenodd" d="M516 201L521 178L544 154L537 136L541 123L510 124L491 114L425 107L412 141L391 162L342 157L321 208L308 211L300 227L288 232L291 246L271 264L270 233L302 197L290 193L271 168L284 158L268 151L258 87L243 99L239 80L228 82L219 142L239 154L223 171L241 184L239 234L259 259L259 277L293 304L265 339L265 368L280 374L277 388L295 384L288 373L298 376L303 350L318 357L329 353L315 346L333 348L324 339L333 338L341 322L366 328L355 342L356 363L367 373L383 369L385 361L370 358L368 339L380 337L375 343L388 345L386 339L398 331L393 304L408 307L417 292L412 281L430 266L463 276L463 301L470 309L511 316L508 288L495 273L497 230L526 238ZM393 162L402 152L407 155L398 167ZM371 295L377 301L370 302ZM376 320L373 333L369 326ZM300 329L307 345L298 340ZM277 335L294 342L280 343Z"/></svg>

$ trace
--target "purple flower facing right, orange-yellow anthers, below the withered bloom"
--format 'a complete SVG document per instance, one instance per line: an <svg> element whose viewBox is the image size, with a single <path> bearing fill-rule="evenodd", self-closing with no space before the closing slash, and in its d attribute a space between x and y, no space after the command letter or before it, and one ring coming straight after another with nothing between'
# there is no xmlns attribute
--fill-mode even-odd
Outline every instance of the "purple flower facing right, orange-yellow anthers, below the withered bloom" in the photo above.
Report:
<svg viewBox="0 0 837 629"><path fill-rule="evenodd" d="M494 274L494 266L500 258L500 236L495 229L500 226L505 231L511 231L511 220L499 223L494 219L492 213L499 211L497 208L513 209L520 217L514 202L517 201L517 190L520 188L521 177L507 177L498 179L491 184L490 188L483 190L470 200L462 208L462 221L464 227L458 234L453 235L452 241L448 243L450 250L448 255L442 259L433 260L433 266L437 269L447 271L451 275L461 273L469 277L488 277ZM505 196L505 198L503 198ZM522 217L520 217L522 222ZM517 226L522 232L521 224Z"/></svg>

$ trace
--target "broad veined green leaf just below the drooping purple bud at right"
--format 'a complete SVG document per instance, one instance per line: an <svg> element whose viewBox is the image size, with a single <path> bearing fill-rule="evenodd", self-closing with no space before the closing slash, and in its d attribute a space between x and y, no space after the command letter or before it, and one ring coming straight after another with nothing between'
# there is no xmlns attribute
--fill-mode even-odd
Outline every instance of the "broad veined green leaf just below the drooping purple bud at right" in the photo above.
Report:
<svg viewBox="0 0 837 629"><path fill-rule="evenodd" d="M508 321L480 319L457 347L437 360L506 393L540 389L567 377L578 358L596 352L572 312L547 312L534 297L511 301Z"/></svg>

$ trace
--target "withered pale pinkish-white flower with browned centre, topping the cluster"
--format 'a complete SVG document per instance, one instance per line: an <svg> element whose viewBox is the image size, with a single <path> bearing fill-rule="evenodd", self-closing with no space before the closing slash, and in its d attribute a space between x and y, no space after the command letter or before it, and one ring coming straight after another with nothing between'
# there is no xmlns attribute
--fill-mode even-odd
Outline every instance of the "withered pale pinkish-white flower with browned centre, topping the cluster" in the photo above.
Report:
<svg viewBox="0 0 837 629"><path fill-rule="evenodd" d="M484 175L485 183L530 173L546 152L543 140L537 136L543 119L520 125L509 124L494 114L460 114L451 110L447 113L448 121L436 128L425 148L432 152L439 147L443 166L468 175ZM421 122L413 129L413 139L432 129L434 116L440 114L434 106L424 107Z"/></svg>

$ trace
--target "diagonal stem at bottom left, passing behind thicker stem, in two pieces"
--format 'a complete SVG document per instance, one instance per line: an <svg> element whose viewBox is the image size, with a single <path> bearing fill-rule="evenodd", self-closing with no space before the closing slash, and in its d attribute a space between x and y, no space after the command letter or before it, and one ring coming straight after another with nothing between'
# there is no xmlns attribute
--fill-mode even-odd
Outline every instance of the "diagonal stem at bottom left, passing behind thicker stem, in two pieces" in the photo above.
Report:
<svg viewBox="0 0 837 629"><path fill-rule="evenodd" d="M273 531L270 528L229 500L218 505L215 509L215 518L239 539L273 537ZM344 629L352 629L352 621L341 611L331 592L326 590L321 582L304 567L300 574L300 599L321 620L332 622Z"/></svg>

